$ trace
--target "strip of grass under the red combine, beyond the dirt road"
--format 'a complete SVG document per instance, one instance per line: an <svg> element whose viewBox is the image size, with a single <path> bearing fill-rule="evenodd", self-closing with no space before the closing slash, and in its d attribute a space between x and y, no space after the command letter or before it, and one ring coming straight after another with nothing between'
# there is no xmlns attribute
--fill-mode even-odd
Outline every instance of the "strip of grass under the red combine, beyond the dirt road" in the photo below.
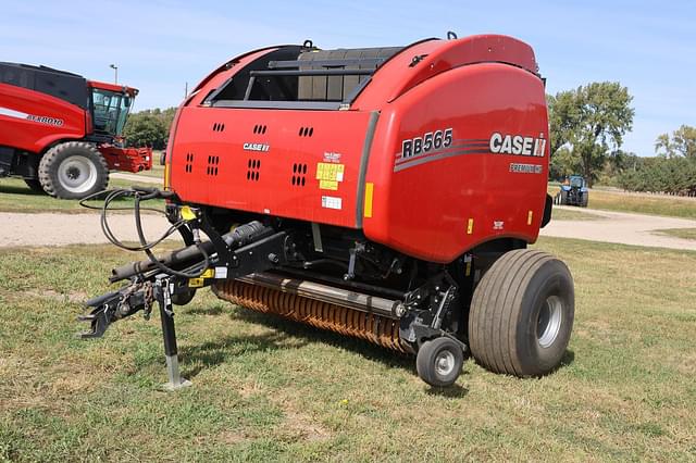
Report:
<svg viewBox="0 0 696 463"><path fill-rule="evenodd" d="M138 175L142 175L141 173ZM159 185L111 178L109 189L129 188L130 186L159 187ZM102 201L88 201L88 204L100 207ZM123 199L113 202L113 207L129 207L133 201ZM148 201L148 207L163 207L163 201ZM161 208L163 209L163 208ZM0 178L0 212L60 212L67 214L98 212L79 205L78 200L57 199L36 192L20 178Z"/></svg>

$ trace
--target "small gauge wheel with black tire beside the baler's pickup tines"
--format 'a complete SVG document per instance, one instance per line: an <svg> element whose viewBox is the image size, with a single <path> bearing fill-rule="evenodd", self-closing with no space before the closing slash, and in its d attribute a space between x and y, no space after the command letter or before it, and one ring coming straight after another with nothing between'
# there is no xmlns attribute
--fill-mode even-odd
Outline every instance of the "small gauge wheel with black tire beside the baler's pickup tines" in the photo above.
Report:
<svg viewBox="0 0 696 463"><path fill-rule="evenodd" d="M437 361L440 354L448 355L453 363L451 370L443 374L437 368ZM415 356L415 370L418 375L431 386L446 387L455 384L461 374L464 364L464 352L461 345L455 340L443 336L431 339L421 345Z"/></svg>

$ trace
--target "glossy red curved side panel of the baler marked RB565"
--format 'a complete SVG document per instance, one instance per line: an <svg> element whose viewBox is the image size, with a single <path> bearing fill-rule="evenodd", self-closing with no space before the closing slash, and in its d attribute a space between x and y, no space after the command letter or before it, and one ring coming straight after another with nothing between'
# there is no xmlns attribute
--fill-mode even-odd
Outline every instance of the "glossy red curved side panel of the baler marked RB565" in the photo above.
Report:
<svg viewBox="0 0 696 463"><path fill-rule="evenodd" d="M536 240L544 212L543 157L490 152L490 137L548 138L542 80L504 64L443 73L386 105L366 183L374 185L365 236L409 255L451 262L498 237ZM449 148L408 159L403 140L452 129ZM519 172L522 171L522 172Z"/></svg>

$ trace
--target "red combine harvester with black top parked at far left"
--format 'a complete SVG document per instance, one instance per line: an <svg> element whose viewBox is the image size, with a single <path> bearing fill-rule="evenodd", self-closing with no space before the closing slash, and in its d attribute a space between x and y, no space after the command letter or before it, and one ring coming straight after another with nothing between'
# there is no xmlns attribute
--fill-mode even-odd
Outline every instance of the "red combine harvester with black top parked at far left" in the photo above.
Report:
<svg viewBox="0 0 696 463"><path fill-rule="evenodd" d="M0 177L36 191L85 198L107 188L109 171L152 168L152 150L123 148L138 90L46 66L0 62Z"/></svg>

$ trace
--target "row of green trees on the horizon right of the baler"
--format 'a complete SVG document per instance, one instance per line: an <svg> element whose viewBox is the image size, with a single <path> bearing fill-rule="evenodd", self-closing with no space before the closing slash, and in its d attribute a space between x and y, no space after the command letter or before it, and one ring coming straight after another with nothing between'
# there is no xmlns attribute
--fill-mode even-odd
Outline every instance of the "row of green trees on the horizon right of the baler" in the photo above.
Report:
<svg viewBox="0 0 696 463"><path fill-rule="evenodd" d="M696 128L682 125L659 135L655 157L621 150L633 127L633 97L619 83L592 83L547 96L549 177L582 174L631 191L696 196Z"/></svg>

